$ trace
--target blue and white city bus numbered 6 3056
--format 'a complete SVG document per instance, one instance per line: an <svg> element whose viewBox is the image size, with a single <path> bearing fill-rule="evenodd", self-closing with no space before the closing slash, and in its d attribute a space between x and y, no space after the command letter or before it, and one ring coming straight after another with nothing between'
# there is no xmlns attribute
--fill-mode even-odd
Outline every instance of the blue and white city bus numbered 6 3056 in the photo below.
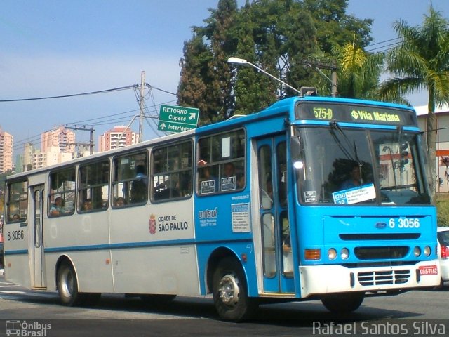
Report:
<svg viewBox="0 0 449 337"><path fill-rule="evenodd" d="M9 176L6 278L64 305L212 293L232 320L437 286L424 146L410 107L295 97Z"/></svg>

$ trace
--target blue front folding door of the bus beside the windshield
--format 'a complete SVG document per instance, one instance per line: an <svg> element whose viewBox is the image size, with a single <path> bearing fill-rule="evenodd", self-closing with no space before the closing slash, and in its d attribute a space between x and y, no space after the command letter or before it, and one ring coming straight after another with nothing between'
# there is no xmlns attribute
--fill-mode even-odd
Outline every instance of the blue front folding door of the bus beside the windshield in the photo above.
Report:
<svg viewBox="0 0 449 337"><path fill-rule="evenodd" d="M294 293L287 210L286 136L257 140L265 293Z"/></svg>

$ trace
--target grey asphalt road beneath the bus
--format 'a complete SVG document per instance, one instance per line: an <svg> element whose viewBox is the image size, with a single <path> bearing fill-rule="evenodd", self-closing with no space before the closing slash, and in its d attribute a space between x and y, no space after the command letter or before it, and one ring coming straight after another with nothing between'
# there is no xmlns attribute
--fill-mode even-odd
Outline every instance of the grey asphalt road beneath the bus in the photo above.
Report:
<svg viewBox="0 0 449 337"><path fill-rule="evenodd" d="M448 303L447 289L410 291L366 298L351 315L309 301L261 305L255 319L234 323L217 317L212 298L178 297L155 308L103 294L93 307L67 308L57 293L28 291L0 276L0 336L445 336Z"/></svg>

